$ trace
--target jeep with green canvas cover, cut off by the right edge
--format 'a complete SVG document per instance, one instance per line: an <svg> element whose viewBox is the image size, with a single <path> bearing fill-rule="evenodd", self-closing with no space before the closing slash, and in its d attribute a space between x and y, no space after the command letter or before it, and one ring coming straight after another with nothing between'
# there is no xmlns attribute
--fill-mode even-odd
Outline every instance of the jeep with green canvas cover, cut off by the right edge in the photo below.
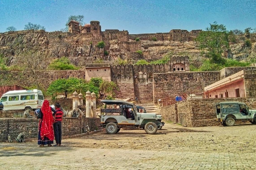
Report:
<svg viewBox="0 0 256 170"><path fill-rule="evenodd" d="M217 121L223 126L234 126L236 121L255 124L256 110L249 110L245 103L220 102L216 104Z"/></svg>

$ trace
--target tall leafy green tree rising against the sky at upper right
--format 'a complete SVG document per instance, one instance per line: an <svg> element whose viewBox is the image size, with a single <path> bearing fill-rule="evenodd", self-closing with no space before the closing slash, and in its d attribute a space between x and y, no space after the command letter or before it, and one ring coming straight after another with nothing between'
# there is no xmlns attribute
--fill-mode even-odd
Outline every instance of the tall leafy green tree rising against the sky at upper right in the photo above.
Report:
<svg viewBox="0 0 256 170"><path fill-rule="evenodd" d="M226 26L214 22L206 28L206 31L199 33L196 41L199 43L200 49L208 50L206 56L211 58L213 63L220 63L222 62L222 52L229 49L228 35Z"/></svg>

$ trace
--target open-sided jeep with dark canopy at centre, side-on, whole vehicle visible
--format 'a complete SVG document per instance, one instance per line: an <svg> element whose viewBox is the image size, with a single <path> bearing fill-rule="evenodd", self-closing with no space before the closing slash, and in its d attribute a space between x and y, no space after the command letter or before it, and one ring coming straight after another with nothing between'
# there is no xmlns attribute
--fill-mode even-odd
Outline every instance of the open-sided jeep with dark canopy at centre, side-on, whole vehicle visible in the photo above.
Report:
<svg viewBox="0 0 256 170"><path fill-rule="evenodd" d="M144 128L148 134L155 134L164 126L161 115L139 113L133 103L122 100L101 100L100 123L109 134L119 132L120 128Z"/></svg>

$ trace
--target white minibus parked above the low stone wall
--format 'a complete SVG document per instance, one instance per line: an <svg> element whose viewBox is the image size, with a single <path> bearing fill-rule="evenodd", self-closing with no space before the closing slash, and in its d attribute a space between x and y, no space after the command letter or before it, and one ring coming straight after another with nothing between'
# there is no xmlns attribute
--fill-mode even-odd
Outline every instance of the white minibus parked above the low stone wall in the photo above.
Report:
<svg viewBox="0 0 256 170"><path fill-rule="evenodd" d="M1 97L5 110L35 110L42 107L44 96L41 90L14 90Z"/></svg>

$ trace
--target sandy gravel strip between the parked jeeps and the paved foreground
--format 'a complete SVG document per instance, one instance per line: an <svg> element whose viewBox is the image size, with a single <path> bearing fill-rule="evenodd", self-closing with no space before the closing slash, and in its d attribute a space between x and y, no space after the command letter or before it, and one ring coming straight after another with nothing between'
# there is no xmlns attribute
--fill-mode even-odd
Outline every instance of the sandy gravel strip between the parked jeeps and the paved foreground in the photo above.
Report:
<svg viewBox="0 0 256 170"><path fill-rule="evenodd" d="M188 128L165 124L157 134L144 130L123 130L116 134L100 132L81 138L64 139L66 146L125 148L170 151L250 153L256 151L256 125Z"/></svg>

